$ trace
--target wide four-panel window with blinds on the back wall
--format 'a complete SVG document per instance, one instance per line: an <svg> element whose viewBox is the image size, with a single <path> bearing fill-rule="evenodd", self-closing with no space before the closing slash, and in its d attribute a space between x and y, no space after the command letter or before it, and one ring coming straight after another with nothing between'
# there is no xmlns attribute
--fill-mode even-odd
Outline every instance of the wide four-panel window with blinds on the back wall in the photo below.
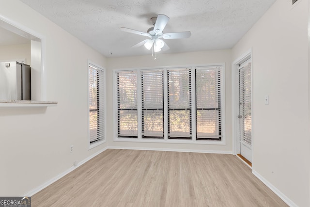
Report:
<svg viewBox="0 0 310 207"><path fill-rule="evenodd" d="M116 141L225 144L223 66L115 70Z"/></svg>

